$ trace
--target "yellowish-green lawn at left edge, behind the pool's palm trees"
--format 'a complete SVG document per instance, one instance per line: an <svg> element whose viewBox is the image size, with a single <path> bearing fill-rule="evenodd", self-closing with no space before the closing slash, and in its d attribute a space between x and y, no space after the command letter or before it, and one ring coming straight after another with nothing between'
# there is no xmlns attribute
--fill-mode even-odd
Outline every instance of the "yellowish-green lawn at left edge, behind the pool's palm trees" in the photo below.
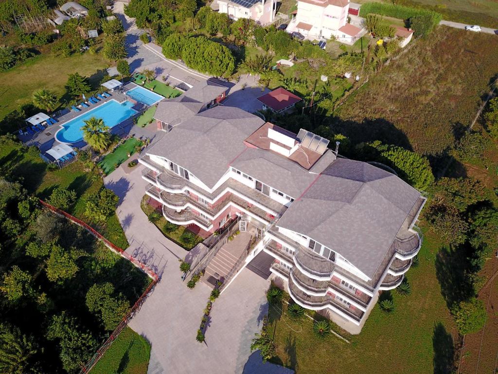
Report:
<svg viewBox="0 0 498 374"><path fill-rule="evenodd" d="M0 73L0 118L16 109L20 104L31 102L34 91L45 88L53 91L65 106L64 85L72 73L88 77L92 87L99 86L107 74L109 64L100 54L75 53L70 57L42 54L33 60Z"/></svg>

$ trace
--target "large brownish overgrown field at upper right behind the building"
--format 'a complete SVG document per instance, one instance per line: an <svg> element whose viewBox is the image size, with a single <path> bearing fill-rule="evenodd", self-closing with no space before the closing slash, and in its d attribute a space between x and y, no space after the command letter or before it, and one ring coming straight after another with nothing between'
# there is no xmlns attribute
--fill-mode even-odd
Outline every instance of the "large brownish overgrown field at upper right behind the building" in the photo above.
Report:
<svg viewBox="0 0 498 374"><path fill-rule="evenodd" d="M340 130L357 143L387 129L391 142L442 156L454 146L455 133L471 124L496 79L497 55L496 35L439 27L338 108L346 121Z"/></svg>

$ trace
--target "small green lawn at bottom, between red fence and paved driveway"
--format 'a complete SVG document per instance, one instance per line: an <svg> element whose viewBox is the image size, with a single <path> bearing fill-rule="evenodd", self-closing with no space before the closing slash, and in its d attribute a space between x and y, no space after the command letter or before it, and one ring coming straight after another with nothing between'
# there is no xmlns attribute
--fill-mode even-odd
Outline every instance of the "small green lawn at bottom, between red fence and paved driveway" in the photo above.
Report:
<svg viewBox="0 0 498 374"><path fill-rule="evenodd" d="M150 344L126 327L92 369L93 374L146 374Z"/></svg>

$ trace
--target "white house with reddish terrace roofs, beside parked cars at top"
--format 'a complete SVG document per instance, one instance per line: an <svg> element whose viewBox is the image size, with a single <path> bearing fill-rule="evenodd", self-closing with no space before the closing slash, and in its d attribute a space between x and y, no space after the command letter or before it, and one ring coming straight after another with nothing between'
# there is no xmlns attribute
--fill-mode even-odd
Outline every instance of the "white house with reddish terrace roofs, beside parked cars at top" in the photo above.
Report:
<svg viewBox="0 0 498 374"><path fill-rule="evenodd" d="M363 30L347 23L349 5L349 0L298 0L297 12L287 32L300 32L310 40L335 37L353 44Z"/></svg>

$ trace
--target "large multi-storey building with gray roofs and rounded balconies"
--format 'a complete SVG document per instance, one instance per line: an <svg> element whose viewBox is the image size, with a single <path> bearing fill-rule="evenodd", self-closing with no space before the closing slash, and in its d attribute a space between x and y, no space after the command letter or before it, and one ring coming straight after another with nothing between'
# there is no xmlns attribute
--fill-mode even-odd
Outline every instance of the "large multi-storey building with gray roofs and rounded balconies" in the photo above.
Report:
<svg viewBox="0 0 498 374"><path fill-rule="evenodd" d="M255 228L244 264L272 256L275 282L297 304L358 334L378 292L402 282L420 249L425 197L338 147L216 106L173 127L139 162L167 220L208 233L234 219L241 231Z"/></svg>

